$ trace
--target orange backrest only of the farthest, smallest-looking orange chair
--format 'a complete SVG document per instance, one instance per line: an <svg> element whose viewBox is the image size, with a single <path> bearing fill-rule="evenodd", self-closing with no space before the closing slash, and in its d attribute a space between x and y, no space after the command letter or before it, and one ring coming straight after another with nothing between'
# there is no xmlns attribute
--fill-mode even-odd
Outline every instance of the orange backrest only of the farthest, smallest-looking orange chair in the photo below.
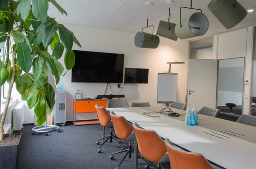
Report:
<svg viewBox="0 0 256 169"><path fill-rule="evenodd" d="M108 124L111 122L110 113L103 106L99 106L98 104L95 105L95 108L100 125L104 127L108 126Z"/></svg>

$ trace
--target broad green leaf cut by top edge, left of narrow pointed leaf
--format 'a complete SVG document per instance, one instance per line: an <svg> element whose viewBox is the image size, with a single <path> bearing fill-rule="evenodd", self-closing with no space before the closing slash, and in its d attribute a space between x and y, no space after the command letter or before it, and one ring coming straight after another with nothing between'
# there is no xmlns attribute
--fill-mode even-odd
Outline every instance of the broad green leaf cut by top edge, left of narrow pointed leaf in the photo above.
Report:
<svg viewBox="0 0 256 169"><path fill-rule="evenodd" d="M36 19L46 22L47 20L47 5L44 0L32 0L32 13Z"/></svg>

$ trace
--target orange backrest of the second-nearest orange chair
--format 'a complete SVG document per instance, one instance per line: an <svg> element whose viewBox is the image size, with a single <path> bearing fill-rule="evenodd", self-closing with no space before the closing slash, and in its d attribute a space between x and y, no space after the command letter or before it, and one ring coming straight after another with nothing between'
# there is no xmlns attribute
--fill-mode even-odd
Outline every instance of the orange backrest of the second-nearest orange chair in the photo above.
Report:
<svg viewBox="0 0 256 169"><path fill-rule="evenodd" d="M155 131L145 130L139 127L137 123L133 124L133 129L140 153L147 160L158 163L166 154L166 148L162 139Z"/></svg>

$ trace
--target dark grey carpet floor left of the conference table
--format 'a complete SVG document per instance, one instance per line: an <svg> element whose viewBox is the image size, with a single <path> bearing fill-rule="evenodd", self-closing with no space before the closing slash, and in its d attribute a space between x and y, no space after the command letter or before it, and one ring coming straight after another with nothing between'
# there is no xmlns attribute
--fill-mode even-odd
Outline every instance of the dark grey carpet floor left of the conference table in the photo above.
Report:
<svg viewBox="0 0 256 169"><path fill-rule="evenodd" d="M115 141L105 143L101 153L97 153L99 145L96 141L102 135L100 125L74 126L66 123L60 127L62 132L52 131L48 136L32 135L32 127L24 126L21 130L19 169L115 169L124 155L115 155L115 159L110 160L110 155L122 148ZM144 165L145 162L139 159L138 168L144 169ZM120 169L133 168L134 154L120 166Z"/></svg>

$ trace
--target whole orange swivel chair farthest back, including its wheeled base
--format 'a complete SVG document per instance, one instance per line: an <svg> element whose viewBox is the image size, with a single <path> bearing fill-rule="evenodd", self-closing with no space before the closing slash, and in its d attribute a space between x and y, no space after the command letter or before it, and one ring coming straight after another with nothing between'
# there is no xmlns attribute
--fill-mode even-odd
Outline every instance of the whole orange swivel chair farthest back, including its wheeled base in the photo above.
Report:
<svg viewBox="0 0 256 169"><path fill-rule="evenodd" d="M95 108L96 108L96 112L98 114L99 123L100 123L101 126L103 126L103 138L98 139L96 144L99 145L100 140L105 140L106 139L98 148L98 153L101 153L100 148L108 140L110 140L110 142L112 142L112 139L114 139L118 143L121 143L121 142L119 141L119 138L117 138L113 135L113 123L112 123L112 120L111 120L111 117L110 117L110 113L103 106L99 106L98 104L95 105ZM105 127L110 128L110 131L109 131L110 135L109 136L105 136L105 131L104 131Z"/></svg>

